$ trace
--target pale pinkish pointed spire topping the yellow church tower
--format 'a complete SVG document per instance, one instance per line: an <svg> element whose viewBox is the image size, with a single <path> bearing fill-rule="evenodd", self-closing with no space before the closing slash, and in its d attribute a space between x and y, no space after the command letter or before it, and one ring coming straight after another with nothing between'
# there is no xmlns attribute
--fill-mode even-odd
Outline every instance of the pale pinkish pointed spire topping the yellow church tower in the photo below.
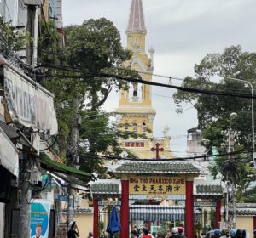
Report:
<svg viewBox="0 0 256 238"><path fill-rule="evenodd" d="M131 0L131 12L126 32L147 32L142 0Z"/></svg>

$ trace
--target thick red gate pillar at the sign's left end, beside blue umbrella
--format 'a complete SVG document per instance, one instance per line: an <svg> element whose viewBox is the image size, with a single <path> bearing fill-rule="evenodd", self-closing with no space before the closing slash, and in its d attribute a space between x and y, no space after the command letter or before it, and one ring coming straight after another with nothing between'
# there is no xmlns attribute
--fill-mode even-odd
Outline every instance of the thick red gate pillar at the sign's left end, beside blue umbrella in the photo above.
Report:
<svg viewBox="0 0 256 238"><path fill-rule="evenodd" d="M121 238L129 237L129 180L122 178L121 195Z"/></svg>

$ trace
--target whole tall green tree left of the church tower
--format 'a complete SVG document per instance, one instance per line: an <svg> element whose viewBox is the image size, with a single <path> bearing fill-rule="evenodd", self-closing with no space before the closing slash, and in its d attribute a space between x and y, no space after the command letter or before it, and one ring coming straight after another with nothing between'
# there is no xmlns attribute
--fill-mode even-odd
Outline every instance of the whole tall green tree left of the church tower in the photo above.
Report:
<svg viewBox="0 0 256 238"><path fill-rule="evenodd" d="M76 150L79 150L81 169L104 174L104 162L97 155L118 156L122 151L119 138L128 138L129 133L119 130L109 121L109 114L101 110L112 88L121 88L123 82L96 75L101 71L114 71L118 75L135 74L121 70L124 61L131 59L131 52L122 48L119 31L106 19L90 19L79 26L67 26L67 42L63 49L59 47L60 37L54 29L52 23L47 26L42 24L38 48L40 63L44 65L44 74L49 79L44 80L44 86L55 94L60 127L58 146L62 157L73 161L70 134L73 100L78 99L77 112L82 120Z"/></svg>

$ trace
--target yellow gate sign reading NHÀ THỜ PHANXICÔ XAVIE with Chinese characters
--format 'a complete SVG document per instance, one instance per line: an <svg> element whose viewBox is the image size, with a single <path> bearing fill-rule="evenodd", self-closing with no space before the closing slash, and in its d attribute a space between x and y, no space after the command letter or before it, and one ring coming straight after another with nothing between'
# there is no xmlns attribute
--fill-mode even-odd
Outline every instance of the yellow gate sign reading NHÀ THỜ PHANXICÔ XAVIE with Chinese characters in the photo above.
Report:
<svg viewBox="0 0 256 238"><path fill-rule="evenodd" d="M131 177L129 194L185 195L185 177Z"/></svg>

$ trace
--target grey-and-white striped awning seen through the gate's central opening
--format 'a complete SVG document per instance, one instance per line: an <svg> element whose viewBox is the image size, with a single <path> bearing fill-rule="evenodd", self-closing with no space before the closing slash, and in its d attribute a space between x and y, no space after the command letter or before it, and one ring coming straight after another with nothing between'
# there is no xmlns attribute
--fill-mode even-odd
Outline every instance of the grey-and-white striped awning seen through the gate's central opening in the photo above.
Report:
<svg viewBox="0 0 256 238"><path fill-rule="evenodd" d="M183 206L131 205L130 220L133 221L183 221Z"/></svg>

